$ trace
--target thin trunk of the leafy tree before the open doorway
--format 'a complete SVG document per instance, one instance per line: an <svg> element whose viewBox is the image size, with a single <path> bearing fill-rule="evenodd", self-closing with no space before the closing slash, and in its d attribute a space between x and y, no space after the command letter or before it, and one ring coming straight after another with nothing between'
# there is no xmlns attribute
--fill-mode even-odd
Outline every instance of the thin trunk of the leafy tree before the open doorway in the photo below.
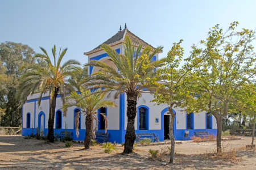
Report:
<svg viewBox="0 0 256 170"><path fill-rule="evenodd" d="M174 118L175 113L172 111L172 108L168 108L169 113L171 113L171 124L170 124L170 138L171 138L171 151L170 151L170 161L169 163L174 162L174 149L175 149L175 139L174 139Z"/></svg>

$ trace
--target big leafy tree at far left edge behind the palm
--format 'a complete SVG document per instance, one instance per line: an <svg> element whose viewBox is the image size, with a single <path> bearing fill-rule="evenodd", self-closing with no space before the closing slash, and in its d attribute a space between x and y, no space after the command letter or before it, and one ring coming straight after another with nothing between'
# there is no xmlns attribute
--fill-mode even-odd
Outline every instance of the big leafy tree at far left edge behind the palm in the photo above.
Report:
<svg viewBox="0 0 256 170"><path fill-rule="evenodd" d="M35 63L34 50L28 45L15 42L0 44L1 80L0 105L5 110L2 114L2 126L19 126L21 124L21 102L18 94L18 80L28 65Z"/></svg>

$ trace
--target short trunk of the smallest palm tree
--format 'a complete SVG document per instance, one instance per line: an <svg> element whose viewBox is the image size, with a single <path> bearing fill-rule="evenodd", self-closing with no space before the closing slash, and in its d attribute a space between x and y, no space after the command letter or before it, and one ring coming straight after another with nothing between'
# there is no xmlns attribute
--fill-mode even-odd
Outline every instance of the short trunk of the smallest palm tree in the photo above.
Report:
<svg viewBox="0 0 256 170"><path fill-rule="evenodd" d="M90 148L90 141L92 141L92 131L93 131L93 117L90 114L86 114L85 117L85 138L84 138L84 149L88 150Z"/></svg>

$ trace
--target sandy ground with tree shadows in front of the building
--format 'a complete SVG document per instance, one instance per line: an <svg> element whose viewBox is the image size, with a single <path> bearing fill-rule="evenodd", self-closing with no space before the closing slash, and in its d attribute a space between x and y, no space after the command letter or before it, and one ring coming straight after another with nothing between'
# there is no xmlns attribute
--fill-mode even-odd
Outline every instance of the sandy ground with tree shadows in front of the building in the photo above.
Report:
<svg viewBox="0 0 256 170"><path fill-rule="evenodd" d="M123 155L122 146L106 154L101 146L82 150L82 145L71 148L64 143L47 143L21 136L0 136L0 169L256 169L256 151L238 150L249 145L251 138L222 142L225 151L236 148L237 161L213 160L215 142L185 141L175 148L174 164L161 165L149 159L148 150L168 151L167 146L137 146L135 153ZM168 160L168 155L164 156Z"/></svg>

